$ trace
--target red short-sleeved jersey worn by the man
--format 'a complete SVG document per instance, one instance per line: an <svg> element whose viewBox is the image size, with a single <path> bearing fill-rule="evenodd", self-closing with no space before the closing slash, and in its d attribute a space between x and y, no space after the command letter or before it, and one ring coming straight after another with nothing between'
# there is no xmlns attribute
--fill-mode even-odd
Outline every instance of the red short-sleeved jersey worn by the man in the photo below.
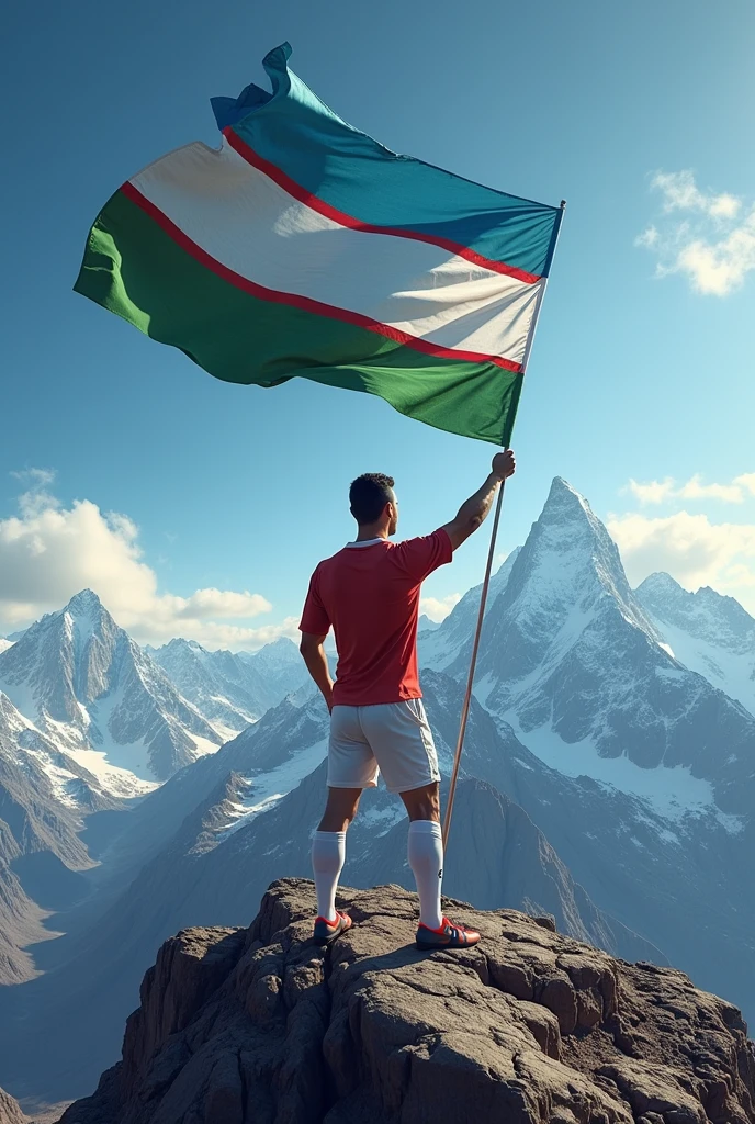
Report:
<svg viewBox="0 0 755 1124"><path fill-rule="evenodd" d="M386 538L349 543L320 562L299 628L325 636L333 625L338 650L335 706L421 698L419 588L452 558L451 540L440 529L403 543Z"/></svg>

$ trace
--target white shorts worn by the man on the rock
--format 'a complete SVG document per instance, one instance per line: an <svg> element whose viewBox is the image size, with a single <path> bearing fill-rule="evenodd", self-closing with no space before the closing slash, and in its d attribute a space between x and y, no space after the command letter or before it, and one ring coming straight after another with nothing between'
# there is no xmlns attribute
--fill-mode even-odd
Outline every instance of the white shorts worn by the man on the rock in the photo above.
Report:
<svg viewBox="0 0 755 1124"><path fill-rule="evenodd" d="M381 772L389 792L409 792L440 780L421 699L334 706L328 787L374 788Z"/></svg>

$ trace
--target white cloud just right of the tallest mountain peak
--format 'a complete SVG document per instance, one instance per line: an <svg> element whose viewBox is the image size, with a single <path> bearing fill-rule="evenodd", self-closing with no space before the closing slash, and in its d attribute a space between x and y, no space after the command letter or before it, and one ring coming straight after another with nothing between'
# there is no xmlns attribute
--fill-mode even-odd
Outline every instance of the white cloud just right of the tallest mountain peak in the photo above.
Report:
<svg viewBox="0 0 755 1124"><path fill-rule="evenodd" d="M712 586L755 609L755 596L748 592L755 587L755 525L713 524L707 515L689 511L660 518L611 515L606 525L633 584L665 570L689 589Z"/></svg>

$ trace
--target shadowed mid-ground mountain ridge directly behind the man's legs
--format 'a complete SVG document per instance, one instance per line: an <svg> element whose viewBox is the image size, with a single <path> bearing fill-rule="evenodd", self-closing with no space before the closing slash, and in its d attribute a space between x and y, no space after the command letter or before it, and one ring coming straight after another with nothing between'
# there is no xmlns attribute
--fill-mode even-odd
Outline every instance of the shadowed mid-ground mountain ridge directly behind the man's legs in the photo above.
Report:
<svg viewBox="0 0 755 1124"><path fill-rule="evenodd" d="M446 731L457 717L460 694L453 680L428 677L428 711L444 760L451 754ZM473 711L467 765L506 771L507 751L527 756L476 703ZM169 933L201 923L242 924L272 880L309 873L311 831L325 799L327 725L321 700L299 709L286 700L236 743L182 770L129 813L139 826L145 817L161 825L171 818L172 831L88 927L76 957L40 981L19 1024L10 1033L0 1030L0 1080L12 1075L17 1088L42 1079L54 1098L85 1090L117 1051L122 1015L133 1007L144 966ZM246 777L236 771L239 767ZM267 785L271 776L279 780L278 798L255 806L255 786ZM194 785L199 777L201 783ZM179 819L175 806L182 798L184 810L191 810ZM349 832L344 885L411 887L400 803L384 789L366 792L363 800ZM561 932L628 958L664 962L657 949L595 906L527 813L490 781L465 776L457 801L458 830L446 864L449 895L493 908L549 913ZM63 1033L72 1028L74 995L75 1035ZM42 1075L27 1049L30 1024L46 1059Z"/></svg>

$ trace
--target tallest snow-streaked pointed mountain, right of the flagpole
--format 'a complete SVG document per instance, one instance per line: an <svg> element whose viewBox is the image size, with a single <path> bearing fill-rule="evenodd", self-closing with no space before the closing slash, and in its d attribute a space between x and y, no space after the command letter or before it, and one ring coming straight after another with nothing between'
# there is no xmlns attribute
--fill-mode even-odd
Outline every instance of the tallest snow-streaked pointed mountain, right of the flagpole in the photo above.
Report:
<svg viewBox="0 0 755 1124"><path fill-rule="evenodd" d="M482 634L476 695L526 747L498 787L600 908L752 1009L755 722L672 650L586 500L555 480ZM461 683L469 638L448 651Z"/></svg>

